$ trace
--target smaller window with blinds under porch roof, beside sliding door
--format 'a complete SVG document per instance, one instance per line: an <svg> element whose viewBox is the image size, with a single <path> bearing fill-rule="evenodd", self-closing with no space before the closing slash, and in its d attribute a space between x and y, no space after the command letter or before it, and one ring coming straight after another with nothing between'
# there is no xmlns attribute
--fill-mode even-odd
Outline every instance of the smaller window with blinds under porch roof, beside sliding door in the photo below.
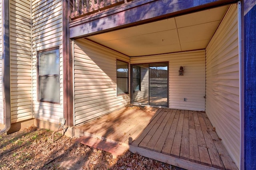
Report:
<svg viewBox="0 0 256 170"><path fill-rule="evenodd" d="M117 85L117 95L128 94L128 66L129 64L116 60L116 85Z"/></svg>

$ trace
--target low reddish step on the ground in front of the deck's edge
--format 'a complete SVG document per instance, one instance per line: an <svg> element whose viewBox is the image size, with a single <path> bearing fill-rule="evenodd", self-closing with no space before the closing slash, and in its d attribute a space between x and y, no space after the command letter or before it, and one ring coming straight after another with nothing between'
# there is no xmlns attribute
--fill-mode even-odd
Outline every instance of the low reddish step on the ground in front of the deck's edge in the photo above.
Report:
<svg viewBox="0 0 256 170"><path fill-rule="evenodd" d="M126 146L86 136L82 136L76 139L76 143L82 143L94 149L100 149L109 152L112 154L113 158L116 158L116 156L124 154L124 152L128 150L128 147Z"/></svg>

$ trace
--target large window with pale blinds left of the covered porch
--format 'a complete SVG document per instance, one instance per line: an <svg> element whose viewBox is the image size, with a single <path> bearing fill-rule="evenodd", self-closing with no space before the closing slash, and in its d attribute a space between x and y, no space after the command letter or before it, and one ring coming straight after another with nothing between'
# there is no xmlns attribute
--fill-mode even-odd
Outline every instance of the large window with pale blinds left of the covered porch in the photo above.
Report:
<svg viewBox="0 0 256 170"><path fill-rule="evenodd" d="M59 48L38 51L38 101L60 104Z"/></svg>

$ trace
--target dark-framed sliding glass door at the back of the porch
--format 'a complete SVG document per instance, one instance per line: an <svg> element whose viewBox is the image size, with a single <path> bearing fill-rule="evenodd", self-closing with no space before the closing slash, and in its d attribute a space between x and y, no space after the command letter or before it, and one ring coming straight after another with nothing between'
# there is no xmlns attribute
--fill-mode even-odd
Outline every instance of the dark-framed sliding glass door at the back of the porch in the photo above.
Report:
<svg viewBox="0 0 256 170"><path fill-rule="evenodd" d="M168 63L132 65L132 103L168 106Z"/></svg>

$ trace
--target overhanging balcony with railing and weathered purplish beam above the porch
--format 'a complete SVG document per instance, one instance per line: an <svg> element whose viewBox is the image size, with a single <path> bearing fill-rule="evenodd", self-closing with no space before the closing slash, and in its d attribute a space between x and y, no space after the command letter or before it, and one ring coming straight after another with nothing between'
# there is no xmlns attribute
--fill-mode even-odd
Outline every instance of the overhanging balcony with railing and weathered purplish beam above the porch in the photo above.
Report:
<svg viewBox="0 0 256 170"><path fill-rule="evenodd" d="M187 0L185 3L183 0L69 0L69 37L88 37L234 2L235 0Z"/></svg>

